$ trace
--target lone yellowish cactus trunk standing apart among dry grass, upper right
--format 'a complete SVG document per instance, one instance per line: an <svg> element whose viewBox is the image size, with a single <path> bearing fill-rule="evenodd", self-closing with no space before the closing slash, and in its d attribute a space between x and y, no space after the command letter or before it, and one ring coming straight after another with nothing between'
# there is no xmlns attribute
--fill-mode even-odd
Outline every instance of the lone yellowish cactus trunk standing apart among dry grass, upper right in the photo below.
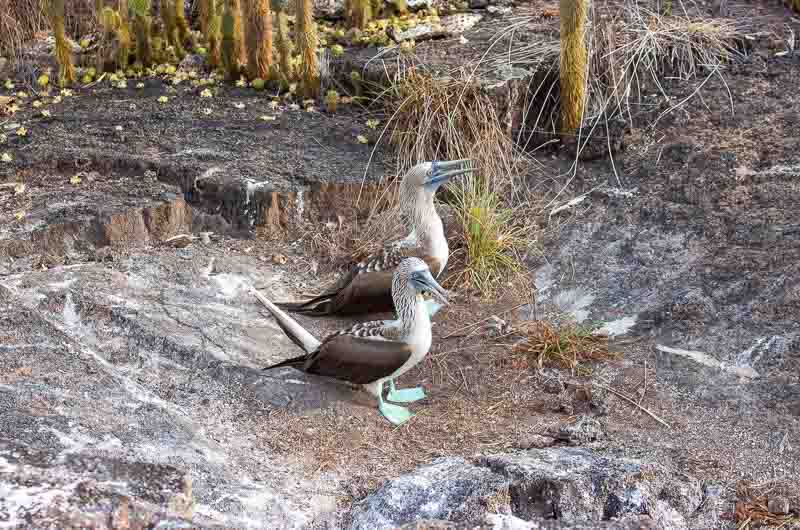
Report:
<svg viewBox="0 0 800 530"><path fill-rule="evenodd" d="M588 52L585 32L587 0L560 0L561 17L561 131L581 126L586 96Z"/></svg>

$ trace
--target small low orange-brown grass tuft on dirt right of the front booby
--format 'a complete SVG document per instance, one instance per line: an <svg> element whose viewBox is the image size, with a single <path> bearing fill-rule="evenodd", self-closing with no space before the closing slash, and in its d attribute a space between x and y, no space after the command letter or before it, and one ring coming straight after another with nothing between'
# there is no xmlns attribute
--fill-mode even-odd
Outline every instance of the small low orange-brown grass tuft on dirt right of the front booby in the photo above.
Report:
<svg viewBox="0 0 800 530"><path fill-rule="evenodd" d="M554 327L545 321L526 322L520 332L525 339L514 346L514 353L525 354L529 366L541 369L545 363L568 368L581 375L590 373L588 362L611 361L621 357L608 349L608 337L593 334L589 327Z"/></svg>

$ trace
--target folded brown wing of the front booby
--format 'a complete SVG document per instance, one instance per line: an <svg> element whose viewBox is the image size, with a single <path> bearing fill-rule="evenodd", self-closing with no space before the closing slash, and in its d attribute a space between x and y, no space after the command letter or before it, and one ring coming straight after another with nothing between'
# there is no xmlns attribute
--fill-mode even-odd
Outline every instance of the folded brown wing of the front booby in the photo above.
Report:
<svg viewBox="0 0 800 530"><path fill-rule="evenodd" d="M404 342L335 335L308 359L305 371L357 385L392 375L411 357Z"/></svg>

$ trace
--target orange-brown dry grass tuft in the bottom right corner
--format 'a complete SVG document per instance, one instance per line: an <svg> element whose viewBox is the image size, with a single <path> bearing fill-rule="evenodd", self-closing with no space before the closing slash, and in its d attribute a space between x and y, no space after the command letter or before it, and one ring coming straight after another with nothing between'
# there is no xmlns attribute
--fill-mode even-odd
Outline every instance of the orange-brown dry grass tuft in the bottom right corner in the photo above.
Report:
<svg viewBox="0 0 800 530"><path fill-rule="evenodd" d="M800 490L797 484L789 481L774 480L763 484L753 485L742 482L737 487L737 500L734 511L737 530L749 528L800 528ZM788 502L789 513L773 513L770 511L770 501L783 499ZM794 512L791 507L794 506Z"/></svg>

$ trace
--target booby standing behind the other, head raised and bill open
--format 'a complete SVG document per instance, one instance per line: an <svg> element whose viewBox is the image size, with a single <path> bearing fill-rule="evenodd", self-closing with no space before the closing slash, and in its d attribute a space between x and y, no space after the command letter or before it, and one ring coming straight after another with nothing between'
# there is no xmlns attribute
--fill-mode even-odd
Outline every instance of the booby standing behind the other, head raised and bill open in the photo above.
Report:
<svg viewBox="0 0 800 530"><path fill-rule="evenodd" d="M410 230L405 239L395 241L378 254L354 265L335 286L319 296L299 303L281 302L278 307L308 316L384 313L395 309L392 303L392 271L405 258L424 260L438 278L447 265L450 248L444 226L436 212L436 190L456 175L473 171L469 159L449 162L423 162L411 168L400 184L400 216ZM427 306L433 316L441 305Z"/></svg>

